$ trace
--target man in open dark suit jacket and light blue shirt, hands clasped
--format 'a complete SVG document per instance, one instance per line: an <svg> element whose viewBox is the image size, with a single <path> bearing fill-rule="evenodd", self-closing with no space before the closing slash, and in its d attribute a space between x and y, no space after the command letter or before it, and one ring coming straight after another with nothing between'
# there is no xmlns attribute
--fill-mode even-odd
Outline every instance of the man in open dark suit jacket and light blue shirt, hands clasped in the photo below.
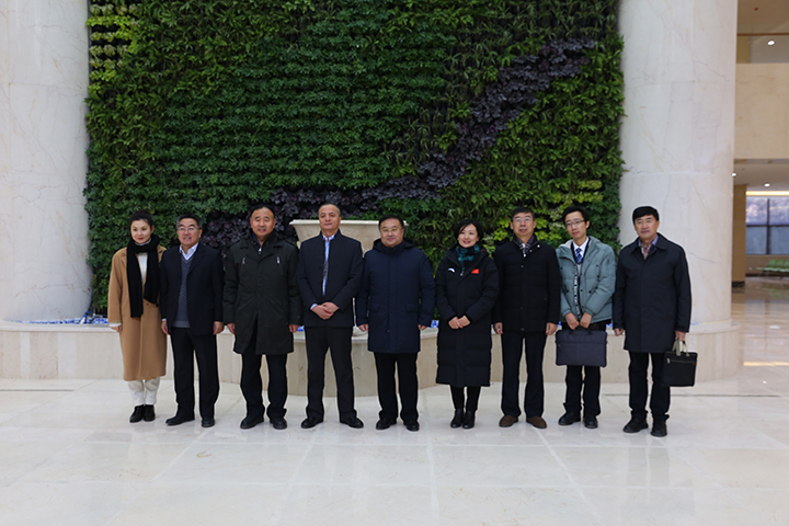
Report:
<svg viewBox="0 0 789 526"><path fill-rule="evenodd" d="M353 299L362 286L362 244L340 232L340 208L324 204L318 210L321 233L301 243L298 286L305 306L307 347L307 418L301 427L323 422L325 354L331 348L338 388L340 422L359 428L354 409Z"/></svg>

